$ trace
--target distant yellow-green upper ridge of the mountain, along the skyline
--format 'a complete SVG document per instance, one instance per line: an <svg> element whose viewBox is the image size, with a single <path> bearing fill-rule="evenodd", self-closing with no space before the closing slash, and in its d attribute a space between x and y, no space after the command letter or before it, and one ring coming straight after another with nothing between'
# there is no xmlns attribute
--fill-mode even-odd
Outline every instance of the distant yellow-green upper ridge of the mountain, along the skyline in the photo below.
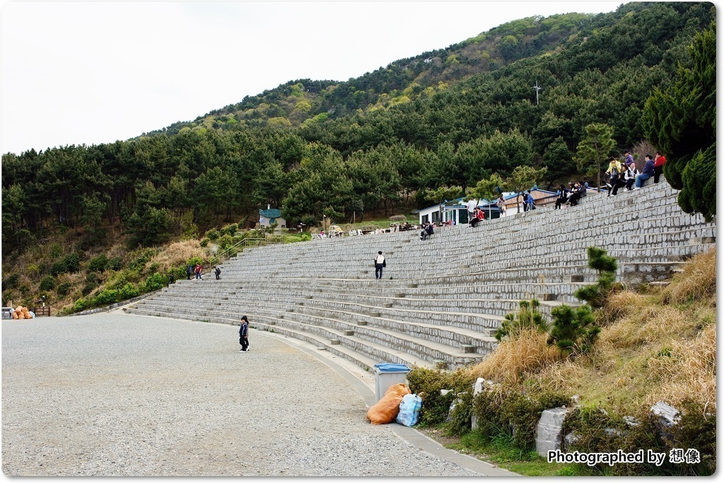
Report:
<svg viewBox="0 0 724 484"><path fill-rule="evenodd" d="M197 126L224 128L227 123L264 125L277 118L288 120L290 126L299 126L320 115L327 114L334 119L353 114L358 109L366 112L390 107L430 96L439 88L439 83L458 83L523 57L560 49L563 41L576 41L581 29L597 15L571 13L526 17L445 49L391 62L387 67L346 82L291 80L256 96L245 96L240 103L216 109L191 122L176 122L144 135L172 135L182 128Z"/></svg>

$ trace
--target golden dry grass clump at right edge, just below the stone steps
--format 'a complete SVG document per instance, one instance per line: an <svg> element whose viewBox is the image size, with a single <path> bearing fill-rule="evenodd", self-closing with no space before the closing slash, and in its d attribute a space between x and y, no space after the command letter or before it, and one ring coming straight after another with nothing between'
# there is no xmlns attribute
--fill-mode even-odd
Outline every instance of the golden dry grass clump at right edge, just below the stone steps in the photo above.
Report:
<svg viewBox="0 0 724 484"><path fill-rule="evenodd" d="M683 304L689 301L709 299L716 293L717 251L694 256L683 267L683 273L673 278L662 291L663 301L668 304Z"/></svg>

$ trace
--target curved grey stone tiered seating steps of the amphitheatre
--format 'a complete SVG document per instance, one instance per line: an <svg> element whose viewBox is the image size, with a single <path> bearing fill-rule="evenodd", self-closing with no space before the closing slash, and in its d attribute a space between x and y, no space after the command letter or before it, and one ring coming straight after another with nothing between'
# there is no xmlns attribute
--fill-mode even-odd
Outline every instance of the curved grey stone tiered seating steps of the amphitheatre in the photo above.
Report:
<svg viewBox="0 0 724 484"><path fill-rule="evenodd" d="M586 248L618 259L625 283L657 283L715 246L715 222L676 204L668 183L578 206L539 209L476 228L402 232L253 249L222 266L222 280L180 280L128 311L251 327L298 338L371 368L380 362L455 369L483 359L505 314L536 297L541 310L580 304L593 283ZM373 257L387 259L374 279Z"/></svg>

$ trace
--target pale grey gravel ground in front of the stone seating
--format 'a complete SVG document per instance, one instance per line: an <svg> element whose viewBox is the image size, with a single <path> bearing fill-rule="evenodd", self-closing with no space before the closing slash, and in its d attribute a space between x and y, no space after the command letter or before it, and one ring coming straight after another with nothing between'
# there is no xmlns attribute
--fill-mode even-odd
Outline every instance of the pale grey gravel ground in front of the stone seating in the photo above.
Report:
<svg viewBox="0 0 724 484"><path fill-rule="evenodd" d="M480 475L401 426L371 425L360 393L315 356L250 340L240 353L238 327L119 312L3 320L3 472Z"/></svg>

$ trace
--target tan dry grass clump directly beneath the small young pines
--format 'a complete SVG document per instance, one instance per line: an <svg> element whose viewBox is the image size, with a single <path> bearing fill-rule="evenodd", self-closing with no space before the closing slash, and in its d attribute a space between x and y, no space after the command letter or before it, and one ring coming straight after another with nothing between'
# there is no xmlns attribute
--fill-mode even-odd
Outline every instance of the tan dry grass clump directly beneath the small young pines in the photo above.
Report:
<svg viewBox="0 0 724 484"><path fill-rule="evenodd" d="M515 338L502 341L487 359L469 368L474 377L517 384L534 373L563 359L556 346L547 343L547 333L534 328L521 330Z"/></svg>

